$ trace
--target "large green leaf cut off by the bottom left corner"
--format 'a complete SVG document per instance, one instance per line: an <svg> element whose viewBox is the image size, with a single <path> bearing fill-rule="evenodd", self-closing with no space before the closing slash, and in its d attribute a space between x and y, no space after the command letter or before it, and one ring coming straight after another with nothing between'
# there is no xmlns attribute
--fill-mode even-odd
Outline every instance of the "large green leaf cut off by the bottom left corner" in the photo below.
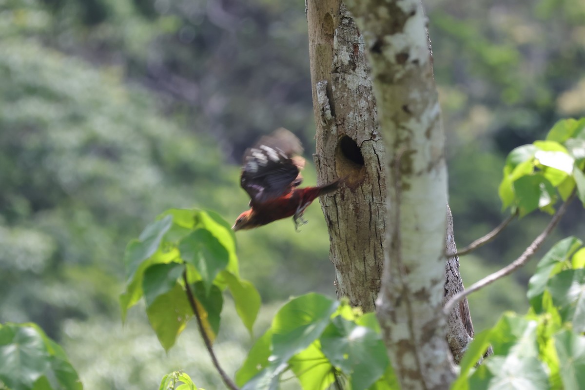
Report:
<svg viewBox="0 0 585 390"><path fill-rule="evenodd" d="M0 325L0 382L11 390L81 390L63 349L32 323Z"/></svg>

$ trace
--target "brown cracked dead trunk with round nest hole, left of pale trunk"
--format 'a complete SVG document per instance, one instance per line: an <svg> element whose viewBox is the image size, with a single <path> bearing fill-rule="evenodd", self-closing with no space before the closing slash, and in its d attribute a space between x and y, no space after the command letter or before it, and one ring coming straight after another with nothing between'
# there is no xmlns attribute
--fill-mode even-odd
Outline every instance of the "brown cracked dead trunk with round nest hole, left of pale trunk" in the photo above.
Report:
<svg viewBox="0 0 585 390"><path fill-rule="evenodd" d="M321 198L338 297L366 312L380 291L386 227L386 154L378 136L364 42L338 0L308 0L318 182L346 177Z"/></svg>

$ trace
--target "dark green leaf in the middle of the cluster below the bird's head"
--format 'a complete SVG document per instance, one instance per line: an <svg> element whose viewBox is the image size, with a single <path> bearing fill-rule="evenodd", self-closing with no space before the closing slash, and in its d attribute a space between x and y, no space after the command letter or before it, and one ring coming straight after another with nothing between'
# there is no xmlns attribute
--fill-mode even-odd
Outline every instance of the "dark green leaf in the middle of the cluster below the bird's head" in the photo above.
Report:
<svg viewBox="0 0 585 390"><path fill-rule="evenodd" d="M197 229L179 243L181 258L193 265L209 292L216 275L229 262L229 253L216 237L205 229Z"/></svg>

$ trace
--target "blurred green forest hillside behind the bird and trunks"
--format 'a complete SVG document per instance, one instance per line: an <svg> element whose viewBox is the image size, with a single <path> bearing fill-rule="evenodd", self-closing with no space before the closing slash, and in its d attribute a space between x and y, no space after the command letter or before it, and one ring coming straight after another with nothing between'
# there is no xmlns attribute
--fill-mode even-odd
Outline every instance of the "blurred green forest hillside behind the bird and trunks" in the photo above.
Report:
<svg viewBox="0 0 585 390"><path fill-rule="evenodd" d="M312 161L303 3L0 0L0 322L39 323L86 389L154 389L179 369L223 388L194 323L169 354L142 308L122 326L122 254L167 208L235 219L248 201L240 156L261 134L287 127ZM585 2L426 6L462 247L505 218L497 186L507 153L585 115ZM314 184L311 165L305 177ZM573 206L547 248L585 239ZM289 296L335 294L318 205L307 218L301 233L290 220L238 233L242 276L264 302L257 334ZM516 258L547 221L514 222L460 259L466 284ZM476 330L527 309L536 261L470 297ZM217 349L233 372L252 340L229 303L225 311Z"/></svg>

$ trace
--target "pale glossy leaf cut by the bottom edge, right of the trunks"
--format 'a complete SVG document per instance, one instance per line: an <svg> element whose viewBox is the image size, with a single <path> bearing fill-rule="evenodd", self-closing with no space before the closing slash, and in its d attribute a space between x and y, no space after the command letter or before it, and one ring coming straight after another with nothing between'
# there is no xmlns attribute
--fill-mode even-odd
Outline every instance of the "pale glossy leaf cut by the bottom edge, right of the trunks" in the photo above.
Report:
<svg viewBox="0 0 585 390"><path fill-rule="evenodd" d="M473 390L548 390L548 375L535 357L492 356L469 380Z"/></svg>

